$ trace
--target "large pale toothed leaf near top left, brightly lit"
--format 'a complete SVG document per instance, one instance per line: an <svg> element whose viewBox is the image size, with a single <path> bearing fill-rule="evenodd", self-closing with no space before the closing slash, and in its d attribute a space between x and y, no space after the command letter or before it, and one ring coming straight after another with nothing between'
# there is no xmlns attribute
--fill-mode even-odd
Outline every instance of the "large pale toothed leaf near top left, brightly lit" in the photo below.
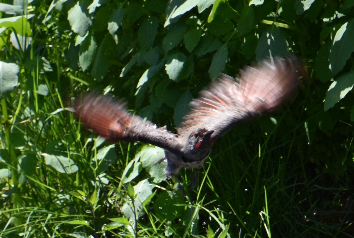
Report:
<svg viewBox="0 0 354 238"><path fill-rule="evenodd" d="M88 13L81 8L80 3L81 1L78 1L75 6L70 8L68 11L68 21L75 33L84 36L92 25L92 21L87 16Z"/></svg>

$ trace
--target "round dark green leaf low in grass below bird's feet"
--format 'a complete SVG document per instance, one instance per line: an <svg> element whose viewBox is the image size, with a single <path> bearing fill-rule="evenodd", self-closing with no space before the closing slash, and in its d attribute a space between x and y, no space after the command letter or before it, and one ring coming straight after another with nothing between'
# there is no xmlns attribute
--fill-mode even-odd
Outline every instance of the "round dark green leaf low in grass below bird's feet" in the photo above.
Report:
<svg viewBox="0 0 354 238"><path fill-rule="evenodd" d="M180 203L183 203L183 200L175 192L162 192L154 202L155 213L162 220L173 221L182 215L184 208L176 206Z"/></svg>

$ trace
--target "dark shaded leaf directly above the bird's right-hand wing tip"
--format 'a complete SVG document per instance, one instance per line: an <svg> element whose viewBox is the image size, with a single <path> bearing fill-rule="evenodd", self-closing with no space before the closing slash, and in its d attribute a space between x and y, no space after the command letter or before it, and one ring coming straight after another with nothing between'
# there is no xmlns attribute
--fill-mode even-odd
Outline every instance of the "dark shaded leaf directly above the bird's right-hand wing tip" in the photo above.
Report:
<svg viewBox="0 0 354 238"><path fill-rule="evenodd" d="M287 53L288 44L279 28L275 25L267 27L258 40L256 48L257 60L262 60L266 57L283 56Z"/></svg>

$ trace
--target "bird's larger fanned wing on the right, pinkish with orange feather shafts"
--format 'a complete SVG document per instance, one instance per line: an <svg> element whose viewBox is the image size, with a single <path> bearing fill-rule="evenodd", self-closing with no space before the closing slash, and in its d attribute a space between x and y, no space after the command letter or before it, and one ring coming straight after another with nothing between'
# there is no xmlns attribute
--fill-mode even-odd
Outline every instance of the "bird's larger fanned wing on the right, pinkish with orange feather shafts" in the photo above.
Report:
<svg viewBox="0 0 354 238"><path fill-rule="evenodd" d="M184 117L178 136L204 127L214 130L215 140L239 121L275 110L292 95L304 74L302 60L294 56L247 66L236 79L222 74L190 103L192 111Z"/></svg>

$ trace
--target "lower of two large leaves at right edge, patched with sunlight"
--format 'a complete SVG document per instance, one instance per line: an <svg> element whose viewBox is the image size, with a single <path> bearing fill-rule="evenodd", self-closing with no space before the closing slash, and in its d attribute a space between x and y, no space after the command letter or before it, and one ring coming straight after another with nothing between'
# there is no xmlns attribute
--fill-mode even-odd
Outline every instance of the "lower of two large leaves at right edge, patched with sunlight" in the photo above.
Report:
<svg viewBox="0 0 354 238"><path fill-rule="evenodd" d="M346 74L338 77L334 81L326 93L324 110L332 108L338 101L347 95L347 93L353 89L354 86L354 71L350 71Z"/></svg>

